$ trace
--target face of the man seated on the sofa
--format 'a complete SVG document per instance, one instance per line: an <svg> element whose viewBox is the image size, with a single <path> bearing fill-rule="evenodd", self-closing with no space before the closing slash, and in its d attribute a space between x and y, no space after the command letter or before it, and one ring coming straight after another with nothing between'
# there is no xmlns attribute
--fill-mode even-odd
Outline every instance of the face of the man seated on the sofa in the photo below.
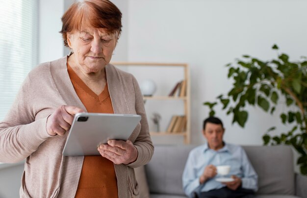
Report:
<svg viewBox="0 0 307 198"><path fill-rule="evenodd" d="M209 148L214 150L223 148L224 128L221 124L206 123L203 133L208 141Z"/></svg>

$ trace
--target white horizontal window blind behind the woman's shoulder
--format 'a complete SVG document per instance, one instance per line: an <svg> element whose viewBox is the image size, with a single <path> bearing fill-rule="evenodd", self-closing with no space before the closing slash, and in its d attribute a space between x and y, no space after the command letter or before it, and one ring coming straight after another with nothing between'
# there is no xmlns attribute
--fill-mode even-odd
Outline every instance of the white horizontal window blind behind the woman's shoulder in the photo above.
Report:
<svg viewBox="0 0 307 198"><path fill-rule="evenodd" d="M38 63L38 1L0 0L0 121Z"/></svg>

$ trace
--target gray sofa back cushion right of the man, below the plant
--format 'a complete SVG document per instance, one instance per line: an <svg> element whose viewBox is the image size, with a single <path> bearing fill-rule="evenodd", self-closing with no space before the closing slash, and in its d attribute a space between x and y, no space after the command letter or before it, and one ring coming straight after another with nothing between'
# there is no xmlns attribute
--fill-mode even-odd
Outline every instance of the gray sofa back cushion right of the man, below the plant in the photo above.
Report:
<svg viewBox="0 0 307 198"><path fill-rule="evenodd" d="M259 195L294 195L293 153L289 146L243 146L258 174Z"/></svg>

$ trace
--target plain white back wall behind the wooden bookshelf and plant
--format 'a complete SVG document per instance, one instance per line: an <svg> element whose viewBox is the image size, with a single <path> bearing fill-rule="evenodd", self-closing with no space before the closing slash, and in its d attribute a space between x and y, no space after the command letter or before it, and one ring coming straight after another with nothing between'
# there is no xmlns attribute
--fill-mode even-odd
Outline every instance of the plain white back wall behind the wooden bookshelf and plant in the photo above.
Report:
<svg viewBox="0 0 307 198"><path fill-rule="evenodd" d="M193 144L205 142L201 128L208 109L203 102L213 101L230 89L231 81L226 77L227 63L242 54L263 60L276 57L271 50L275 43L292 59L307 52L306 0L128 2L128 60L190 64ZM135 75L138 78L140 74L135 72ZM152 72L152 75L160 74ZM172 75L168 78L172 79ZM158 87L163 86L156 83ZM237 124L231 125L232 117L226 116L220 108L216 108L216 116L225 124L227 142L261 145L263 133L272 125L277 125L279 132L288 128L280 124L279 113L284 108L281 105L273 117L259 109L249 108L245 129ZM152 112L147 113L150 116Z"/></svg>

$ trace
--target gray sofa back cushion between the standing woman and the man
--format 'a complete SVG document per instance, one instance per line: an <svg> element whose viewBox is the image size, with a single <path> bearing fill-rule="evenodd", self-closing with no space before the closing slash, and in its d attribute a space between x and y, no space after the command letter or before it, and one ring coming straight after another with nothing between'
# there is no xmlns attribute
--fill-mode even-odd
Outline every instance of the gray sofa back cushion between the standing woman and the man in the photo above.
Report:
<svg viewBox="0 0 307 198"><path fill-rule="evenodd" d="M155 146L152 160L145 166L151 194L184 196L182 172L195 146Z"/></svg>

